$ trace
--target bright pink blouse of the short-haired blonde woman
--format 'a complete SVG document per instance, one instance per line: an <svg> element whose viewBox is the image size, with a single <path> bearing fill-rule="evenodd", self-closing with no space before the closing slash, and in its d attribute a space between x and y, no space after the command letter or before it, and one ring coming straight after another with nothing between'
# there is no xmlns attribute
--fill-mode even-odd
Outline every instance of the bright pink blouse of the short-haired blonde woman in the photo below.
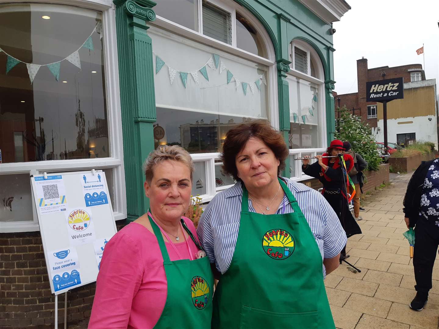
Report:
<svg viewBox="0 0 439 329"><path fill-rule="evenodd" d="M198 240L194 224L183 217ZM187 238L192 259L198 248ZM186 241L175 243L184 259L191 259ZM180 257L166 242L171 261ZM105 245L89 328L153 328L166 303L167 283L157 238L146 227L130 223Z"/></svg>

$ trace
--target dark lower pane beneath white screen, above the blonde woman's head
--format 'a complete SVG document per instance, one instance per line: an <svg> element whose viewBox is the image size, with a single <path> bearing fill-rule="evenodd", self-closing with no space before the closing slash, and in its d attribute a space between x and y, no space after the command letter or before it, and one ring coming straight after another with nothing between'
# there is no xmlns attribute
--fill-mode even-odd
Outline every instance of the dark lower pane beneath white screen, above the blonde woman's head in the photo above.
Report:
<svg viewBox="0 0 439 329"><path fill-rule="evenodd" d="M164 136L154 140L154 147L179 145L190 153L220 152L226 133L248 120L251 121L245 117L157 107L157 125L164 130Z"/></svg>

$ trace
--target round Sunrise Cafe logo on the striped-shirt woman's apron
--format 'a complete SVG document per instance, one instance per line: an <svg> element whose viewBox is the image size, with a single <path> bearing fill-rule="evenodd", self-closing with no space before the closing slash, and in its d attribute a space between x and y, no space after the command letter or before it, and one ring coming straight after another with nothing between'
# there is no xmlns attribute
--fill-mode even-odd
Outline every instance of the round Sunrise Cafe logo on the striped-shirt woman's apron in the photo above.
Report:
<svg viewBox="0 0 439 329"><path fill-rule="evenodd" d="M283 229L272 229L264 234L262 247L265 253L277 260L286 259L294 251L294 238Z"/></svg>

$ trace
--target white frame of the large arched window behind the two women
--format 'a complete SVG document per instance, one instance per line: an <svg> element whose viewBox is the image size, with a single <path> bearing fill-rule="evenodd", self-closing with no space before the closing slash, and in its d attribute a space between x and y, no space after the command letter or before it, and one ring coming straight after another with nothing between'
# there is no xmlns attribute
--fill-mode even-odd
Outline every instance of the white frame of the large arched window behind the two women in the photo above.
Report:
<svg viewBox="0 0 439 329"><path fill-rule="evenodd" d="M244 7L239 6L234 2L225 2L221 0L204 0L209 2L210 4L223 9L224 11L230 12L232 19L232 45L227 43L223 43L219 40L213 39L209 36L205 36L202 34L202 0L196 0L198 3L198 32L192 29L188 29L187 27L177 24L173 21L169 21L166 18L163 18L159 15L156 16L156 20L150 22L151 25L156 26L161 29L166 29L169 32L186 37L188 39L194 40L196 42L202 43L205 46L213 47L223 52L227 52L230 55L242 57L248 61L253 61L258 64L263 64L268 67L268 76L267 76L267 84L268 84L268 113L267 118L270 120L273 127L279 129L279 111L278 111L278 96L277 96L277 68L276 68L276 57L274 53L273 43L271 42L270 36L260 24L260 22ZM259 37L261 38L267 53L267 58L255 55L246 50L242 50L237 48L236 46L236 11L241 14L241 16L248 19L248 21L252 24L253 28L258 32ZM201 18L201 19L200 19ZM151 30L152 31L152 30ZM185 109L187 110L187 109ZM227 186L221 186L216 188L215 185L215 161L219 159L219 152L213 153L194 153L191 154L193 161L205 161L206 163L206 194L200 195L202 198L203 204L209 202L213 199L216 193L219 193L222 190L225 190L233 184Z"/></svg>

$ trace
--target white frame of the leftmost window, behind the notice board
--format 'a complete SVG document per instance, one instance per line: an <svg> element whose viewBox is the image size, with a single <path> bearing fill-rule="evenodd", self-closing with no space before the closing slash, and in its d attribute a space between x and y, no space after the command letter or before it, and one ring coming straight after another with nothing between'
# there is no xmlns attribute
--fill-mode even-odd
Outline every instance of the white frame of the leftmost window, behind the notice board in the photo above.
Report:
<svg viewBox="0 0 439 329"><path fill-rule="evenodd" d="M105 0L0 0L0 5L16 3L59 4L101 11L104 45L105 93L108 113L108 144L112 157L56 161L34 161L0 164L0 175L44 172L68 172L71 170L112 169L114 185L115 220L127 218L125 169L123 164L122 119L120 113L119 62L117 57L115 5ZM32 187L29 186L30 192ZM33 194L32 194L33 200ZM32 202L31 221L0 222L0 233L39 231L36 207Z"/></svg>

